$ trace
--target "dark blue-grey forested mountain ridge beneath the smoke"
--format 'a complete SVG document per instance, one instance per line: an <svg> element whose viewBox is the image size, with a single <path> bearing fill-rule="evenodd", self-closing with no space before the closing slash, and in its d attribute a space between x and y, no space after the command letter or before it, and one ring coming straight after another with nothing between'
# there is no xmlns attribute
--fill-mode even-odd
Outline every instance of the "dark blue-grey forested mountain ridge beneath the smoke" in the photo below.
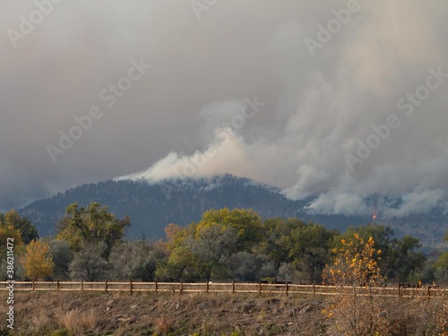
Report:
<svg viewBox="0 0 448 336"><path fill-rule="evenodd" d="M56 222L64 216L65 207L72 202L86 206L96 201L108 206L109 211L119 219L129 215L132 225L127 235L130 238L143 235L149 239L164 237L164 228L169 223L185 226L201 220L204 211L225 207L252 208L263 219L297 217L306 221L313 220L327 228L337 228L340 231L345 231L349 226L372 221L371 214L365 217L311 214L305 207L312 200L314 197L291 201L280 194L279 189L270 185L259 184L248 178L224 175L199 179L168 179L154 183L110 180L80 185L65 193L33 202L19 212L39 228L41 237L56 234ZM378 222L390 223L398 236L411 233L414 237L420 237L426 244L437 244L448 229L443 213L436 214L434 211L412 219Z"/></svg>

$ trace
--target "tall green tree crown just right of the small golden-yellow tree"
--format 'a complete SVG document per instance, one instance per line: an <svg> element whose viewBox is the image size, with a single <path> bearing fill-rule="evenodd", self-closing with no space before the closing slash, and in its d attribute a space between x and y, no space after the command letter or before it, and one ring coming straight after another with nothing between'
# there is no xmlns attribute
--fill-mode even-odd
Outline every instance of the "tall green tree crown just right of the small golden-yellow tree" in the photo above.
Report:
<svg viewBox="0 0 448 336"><path fill-rule="evenodd" d="M117 220L108 207L101 207L99 202L90 202L87 208L80 208L74 202L67 206L65 213L65 220L59 221L57 239L66 240L73 252L81 251L86 244L104 243L104 256L107 258L112 246L122 239L125 229L131 225L128 216Z"/></svg>

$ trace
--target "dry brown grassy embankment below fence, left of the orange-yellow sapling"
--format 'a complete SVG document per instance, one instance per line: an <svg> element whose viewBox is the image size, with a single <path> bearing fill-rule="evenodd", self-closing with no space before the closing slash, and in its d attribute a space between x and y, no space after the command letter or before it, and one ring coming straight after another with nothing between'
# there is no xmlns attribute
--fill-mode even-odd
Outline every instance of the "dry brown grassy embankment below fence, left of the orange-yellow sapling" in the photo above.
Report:
<svg viewBox="0 0 448 336"><path fill-rule="evenodd" d="M244 294L16 292L22 335L319 335L323 301ZM5 305L2 314L5 315ZM7 331L6 321L2 330ZM2 332L0 332L2 334Z"/></svg>

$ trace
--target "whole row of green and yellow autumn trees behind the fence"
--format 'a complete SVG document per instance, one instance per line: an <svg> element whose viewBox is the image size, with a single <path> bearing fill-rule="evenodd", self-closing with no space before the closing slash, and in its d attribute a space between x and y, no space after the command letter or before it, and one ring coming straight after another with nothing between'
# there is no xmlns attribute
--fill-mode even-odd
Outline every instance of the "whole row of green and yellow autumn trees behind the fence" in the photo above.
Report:
<svg viewBox="0 0 448 336"><path fill-rule="evenodd" d="M375 242L375 265L387 282L448 282L448 252L423 253L418 238L394 237L374 223L346 232L296 218L262 218L250 209L210 210L166 237L125 238L132 225L99 202L68 205L55 237L39 238L16 211L0 213L1 268L6 240L14 238L15 280L288 280L322 283L340 250L353 237ZM445 237L448 240L448 233ZM18 258L17 258L18 257Z"/></svg>

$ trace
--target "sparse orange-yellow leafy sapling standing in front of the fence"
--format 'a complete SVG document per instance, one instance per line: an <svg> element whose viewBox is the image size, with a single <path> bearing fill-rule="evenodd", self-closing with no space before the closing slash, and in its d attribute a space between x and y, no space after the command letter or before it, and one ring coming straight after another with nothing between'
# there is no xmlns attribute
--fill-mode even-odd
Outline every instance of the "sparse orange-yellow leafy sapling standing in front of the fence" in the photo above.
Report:
<svg viewBox="0 0 448 336"><path fill-rule="evenodd" d="M324 283L337 286L339 295L323 313L340 334L387 335L389 319L383 301L373 295L385 282L377 264L381 250L375 249L372 237L365 241L357 233L349 241L342 239L341 244L339 250L333 250L332 265L323 270ZM357 295L360 288L365 289L363 295Z"/></svg>

